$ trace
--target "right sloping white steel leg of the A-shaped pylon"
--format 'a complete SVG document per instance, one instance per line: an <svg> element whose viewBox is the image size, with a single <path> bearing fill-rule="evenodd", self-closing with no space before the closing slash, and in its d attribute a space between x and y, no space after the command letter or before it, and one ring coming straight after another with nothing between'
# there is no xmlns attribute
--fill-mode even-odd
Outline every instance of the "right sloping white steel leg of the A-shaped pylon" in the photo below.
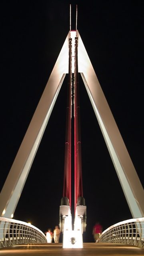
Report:
<svg viewBox="0 0 144 256"><path fill-rule="evenodd" d="M78 36L78 72L86 86L96 118L124 191L133 218L144 216L144 189L102 92L80 34Z"/></svg>

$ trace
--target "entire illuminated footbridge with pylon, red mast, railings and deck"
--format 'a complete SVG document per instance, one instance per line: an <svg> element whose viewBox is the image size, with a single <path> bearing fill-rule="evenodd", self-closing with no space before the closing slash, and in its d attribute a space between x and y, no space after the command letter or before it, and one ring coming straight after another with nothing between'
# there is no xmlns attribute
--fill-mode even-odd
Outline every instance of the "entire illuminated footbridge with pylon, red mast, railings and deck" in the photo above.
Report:
<svg viewBox="0 0 144 256"><path fill-rule="evenodd" d="M77 12L76 12L77 15ZM70 15L71 17L71 15ZM77 24L77 18L76 18ZM66 142L64 162L64 187L60 202L60 231L62 244L47 244L46 236L26 222L14 220L20 194L56 102L68 74L66 113ZM133 219L119 222L102 232L99 244L83 243L86 232L86 202L82 189L82 157L80 138L79 74L88 92L102 135L108 147L120 184L126 196ZM71 204L71 137L74 114L74 216ZM0 247L1 254L43 254L55 252L72 255L72 250L83 253L107 255L144 255L144 190L132 160L120 135L112 112L102 92L80 34L71 30L64 42L46 88L18 150L12 168L0 193ZM72 225L74 220L74 227ZM136 253L136 254L134 254Z"/></svg>

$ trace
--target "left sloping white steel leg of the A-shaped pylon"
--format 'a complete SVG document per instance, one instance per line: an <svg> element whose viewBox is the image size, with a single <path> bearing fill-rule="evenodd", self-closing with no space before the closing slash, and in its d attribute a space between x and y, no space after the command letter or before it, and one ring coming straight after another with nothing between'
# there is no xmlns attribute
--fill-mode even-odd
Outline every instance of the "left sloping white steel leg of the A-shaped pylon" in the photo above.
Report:
<svg viewBox="0 0 144 256"><path fill-rule="evenodd" d="M0 193L0 216L11 218L14 214L62 82L68 73L68 38L70 32Z"/></svg>

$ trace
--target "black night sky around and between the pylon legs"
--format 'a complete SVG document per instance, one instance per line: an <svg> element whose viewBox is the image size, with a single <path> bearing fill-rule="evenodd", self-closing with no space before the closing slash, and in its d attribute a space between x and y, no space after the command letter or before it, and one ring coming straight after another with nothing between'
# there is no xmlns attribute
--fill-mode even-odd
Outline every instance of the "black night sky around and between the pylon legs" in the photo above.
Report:
<svg viewBox="0 0 144 256"><path fill-rule="evenodd" d="M0 2L0 189L69 31L78 4L78 31L116 124L144 186L143 1ZM132 218L86 89L80 80L84 242L92 227L103 230ZM29 172L14 219L43 232L59 224L63 193L67 76ZM72 157L72 170L74 169ZM74 204L74 202L73 202ZM61 237L62 239L62 237Z"/></svg>

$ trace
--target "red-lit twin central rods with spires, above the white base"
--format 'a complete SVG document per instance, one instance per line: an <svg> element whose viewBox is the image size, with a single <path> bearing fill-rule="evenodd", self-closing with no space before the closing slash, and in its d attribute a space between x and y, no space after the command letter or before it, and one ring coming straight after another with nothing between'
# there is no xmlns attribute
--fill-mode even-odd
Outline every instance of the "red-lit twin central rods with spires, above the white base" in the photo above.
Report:
<svg viewBox="0 0 144 256"><path fill-rule="evenodd" d="M77 6L76 6L77 28ZM70 5L70 29L71 29L71 5ZM66 110L66 142L64 158L64 189L61 205L69 205L71 208L71 117L72 117L72 87L74 87L74 212L76 205L82 205L84 200L82 191L82 157L80 140L80 100L78 82L78 37L76 30L70 30L69 38L69 68L68 68L68 95ZM72 73L74 83L72 84ZM67 199L66 199L67 198ZM78 199L79 198L79 199ZM69 200L69 202L68 202ZM81 202L80 202L81 201Z"/></svg>

